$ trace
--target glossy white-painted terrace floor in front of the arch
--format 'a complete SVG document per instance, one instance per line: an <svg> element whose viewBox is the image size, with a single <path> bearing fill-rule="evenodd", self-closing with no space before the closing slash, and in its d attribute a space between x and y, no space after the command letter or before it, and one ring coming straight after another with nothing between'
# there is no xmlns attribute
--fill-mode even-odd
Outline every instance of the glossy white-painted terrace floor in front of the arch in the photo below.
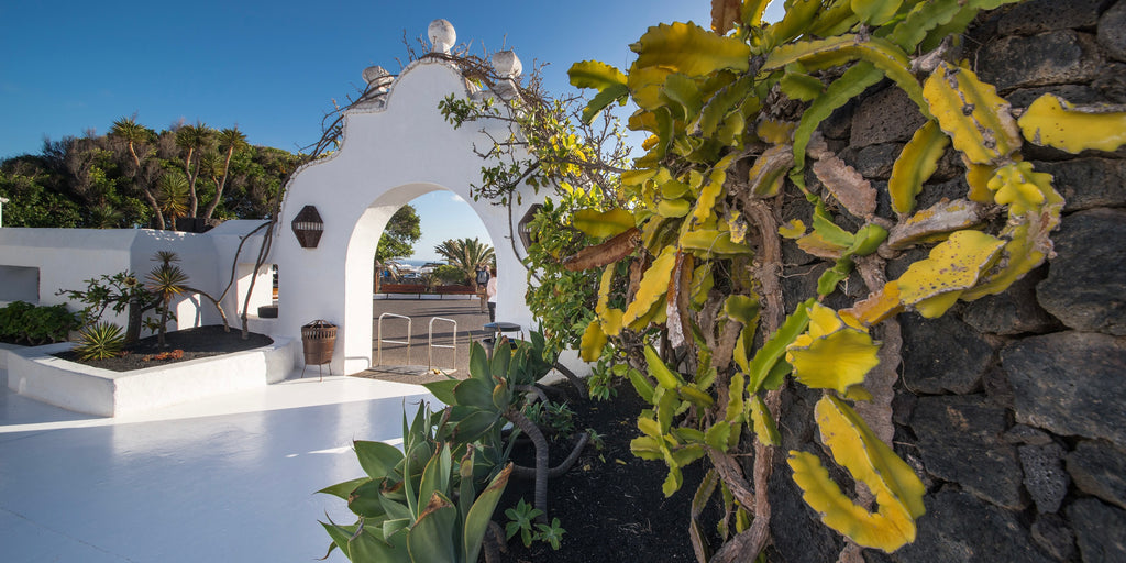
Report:
<svg viewBox="0 0 1126 563"><path fill-rule="evenodd" d="M423 399L314 374L108 419L11 393L0 370L0 561L314 561L316 520L352 521L314 491L363 474L354 438L399 445L404 402Z"/></svg>

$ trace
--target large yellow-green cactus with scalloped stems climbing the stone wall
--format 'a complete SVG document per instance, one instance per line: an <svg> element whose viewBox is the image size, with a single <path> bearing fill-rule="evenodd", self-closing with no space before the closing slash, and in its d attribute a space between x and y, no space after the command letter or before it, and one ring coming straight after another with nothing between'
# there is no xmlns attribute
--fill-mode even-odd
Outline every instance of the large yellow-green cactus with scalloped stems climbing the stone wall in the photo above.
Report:
<svg viewBox="0 0 1126 563"><path fill-rule="evenodd" d="M969 21L1009 0L792 0L770 25L762 23L767 3L714 0L713 32L652 27L631 46L638 56L629 69L587 61L571 71L574 86L598 91L584 120L628 98L637 107L629 127L647 135L645 154L620 173L619 209L604 202L575 213L572 225L593 242L564 263L599 268L590 276L600 276L581 352L593 360L604 349L624 350L629 366L618 372L652 405L637 418L641 436L631 448L665 463L665 494L681 488L682 467L712 463L691 515L701 562L709 549L696 507L717 492L726 513L743 515L734 526L739 540L717 560L733 561L736 549L754 557L767 540L766 476L779 441L778 390L789 375L823 390L815 417L825 444L879 508L851 501L812 454L794 454L807 502L859 545L894 551L912 540L923 490L847 404L878 394L866 386L890 391L894 383L869 377L888 372L882 363L897 356L897 345L882 348L873 334L879 324L896 328L902 312L933 318L958 300L1002 292L1051 254L1063 198L1048 175L1024 161L1026 138L1065 150L1123 143L1117 114L1076 135L1072 124L1092 110L1052 99L1018 125L1008 101L951 59L957 51L949 47ZM816 133L885 78L926 119L893 167L894 217L877 214L875 182ZM968 193L915 209L949 149L965 163ZM787 207L794 196L796 214ZM1003 225L990 221L999 213ZM830 261L816 295L790 298L798 305L789 315L779 236ZM888 280L885 257L906 249L929 256ZM839 311L823 305L854 270L867 296ZM888 405L875 413L891 425ZM753 468L741 463L748 457ZM726 518L721 529L732 539Z"/></svg>

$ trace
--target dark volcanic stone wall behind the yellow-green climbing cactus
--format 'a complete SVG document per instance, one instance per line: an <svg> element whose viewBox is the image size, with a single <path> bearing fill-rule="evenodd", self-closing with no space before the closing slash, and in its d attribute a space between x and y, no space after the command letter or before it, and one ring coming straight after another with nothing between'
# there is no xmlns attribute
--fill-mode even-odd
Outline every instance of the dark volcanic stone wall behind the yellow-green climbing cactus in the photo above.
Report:
<svg viewBox="0 0 1126 563"><path fill-rule="evenodd" d="M1045 92L1076 105L1126 104L1126 0L1000 9L978 19L962 48L1015 111ZM922 123L885 81L837 111L822 133L886 187ZM894 447L928 488L927 515L913 544L890 555L865 549L868 562L1126 561L1126 150L1072 155L1026 144L1022 154L1053 175L1066 199L1055 256L1008 292L959 303L941 319L899 315ZM964 173L950 150L918 208L964 198ZM894 216L886 200L878 213ZM926 254L891 260L888 278ZM787 295L810 295L825 266L788 242L784 259ZM868 289L854 276L842 293L826 304L848 306ZM820 450L811 414L817 394L789 393L784 448ZM843 542L805 507L779 457L771 560L837 561Z"/></svg>

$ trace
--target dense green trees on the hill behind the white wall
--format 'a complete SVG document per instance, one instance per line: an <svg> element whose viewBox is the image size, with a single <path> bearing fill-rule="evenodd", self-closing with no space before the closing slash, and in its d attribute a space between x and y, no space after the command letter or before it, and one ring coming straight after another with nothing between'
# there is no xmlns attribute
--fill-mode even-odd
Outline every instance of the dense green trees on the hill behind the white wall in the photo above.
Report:
<svg viewBox="0 0 1126 563"><path fill-rule="evenodd" d="M163 208L181 200L184 209L172 206L181 217L203 206L203 218L263 218L289 173L307 160L251 146L238 127L198 123L158 133L135 116L123 117L107 135L48 140L41 154L0 160L0 196L11 200L5 225L167 229L175 225ZM179 184L175 178L186 182L182 197L169 187Z"/></svg>

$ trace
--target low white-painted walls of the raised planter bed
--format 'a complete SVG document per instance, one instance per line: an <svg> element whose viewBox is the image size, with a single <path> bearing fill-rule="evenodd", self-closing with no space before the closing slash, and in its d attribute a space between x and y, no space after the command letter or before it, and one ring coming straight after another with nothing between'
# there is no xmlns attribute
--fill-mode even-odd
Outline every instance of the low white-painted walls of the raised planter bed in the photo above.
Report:
<svg viewBox="0 0 1126 563"><path fill-rule="evenodd" d="M9 350L8 388L63 409L118 417L277 383L293 372L293 339L239 351L111 372L56 358L72 343Z"/></svg>

